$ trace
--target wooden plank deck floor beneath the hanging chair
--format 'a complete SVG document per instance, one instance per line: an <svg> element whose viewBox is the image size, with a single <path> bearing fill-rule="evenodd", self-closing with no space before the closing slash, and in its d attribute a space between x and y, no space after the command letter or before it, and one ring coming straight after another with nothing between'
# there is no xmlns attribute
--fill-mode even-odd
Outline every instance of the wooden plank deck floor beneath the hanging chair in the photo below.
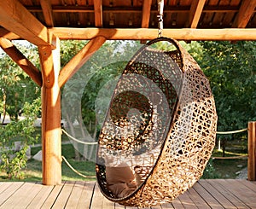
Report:
<svg viewBox="0 0 256 209"><path fill-rule="evenodd" d="M0 183L0 208L121 209L105 199L95 182ZM135 208L135 207L126 207ZM161 208L256 208L256 182L235 179L200 180L194 187Z"/></svg>

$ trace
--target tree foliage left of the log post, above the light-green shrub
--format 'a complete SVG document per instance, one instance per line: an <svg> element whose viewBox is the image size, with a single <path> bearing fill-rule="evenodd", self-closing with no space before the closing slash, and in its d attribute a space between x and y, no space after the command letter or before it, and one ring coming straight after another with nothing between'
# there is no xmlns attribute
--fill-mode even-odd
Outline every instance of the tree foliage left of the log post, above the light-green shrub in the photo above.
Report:
<svg viewBox="0 0 256 209"><path fill-rule="evenodd" d="M26 57L39 67L38 51L32 44L16 44ZM32 102L40 96L40 88L12 61L8 55L0 55L0 111L17 120L25 102ZM4 121L3 121L4 122Z"/></svg>

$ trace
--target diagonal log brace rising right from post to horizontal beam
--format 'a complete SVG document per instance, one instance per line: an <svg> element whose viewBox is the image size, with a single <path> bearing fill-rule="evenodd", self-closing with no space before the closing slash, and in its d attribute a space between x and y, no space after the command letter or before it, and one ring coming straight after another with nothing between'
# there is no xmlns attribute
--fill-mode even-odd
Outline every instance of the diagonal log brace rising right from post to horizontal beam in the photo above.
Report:
<svg viewBox="0 0 256 209"><path fill-rule="evenodd" d="M67 80L71 78L86 61L89 60L90 56L93 55L97 49L100 49L105 41L106 38L103 37L92 38L90 42L87 43L84 48L81 49L79 53L62 68L59 76L59 86L63 86L63 84L65 84Z"/></svg>

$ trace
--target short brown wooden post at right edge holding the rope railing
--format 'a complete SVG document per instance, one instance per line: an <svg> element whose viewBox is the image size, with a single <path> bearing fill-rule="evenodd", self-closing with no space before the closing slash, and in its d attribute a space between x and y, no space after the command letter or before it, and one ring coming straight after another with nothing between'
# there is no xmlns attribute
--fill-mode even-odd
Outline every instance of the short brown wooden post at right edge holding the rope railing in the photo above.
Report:
<svg viewBox="0 0 256 209"><path fill-rule="evenodd" d="M256 181L256 121L248 123L247 179Z"/></svg>

